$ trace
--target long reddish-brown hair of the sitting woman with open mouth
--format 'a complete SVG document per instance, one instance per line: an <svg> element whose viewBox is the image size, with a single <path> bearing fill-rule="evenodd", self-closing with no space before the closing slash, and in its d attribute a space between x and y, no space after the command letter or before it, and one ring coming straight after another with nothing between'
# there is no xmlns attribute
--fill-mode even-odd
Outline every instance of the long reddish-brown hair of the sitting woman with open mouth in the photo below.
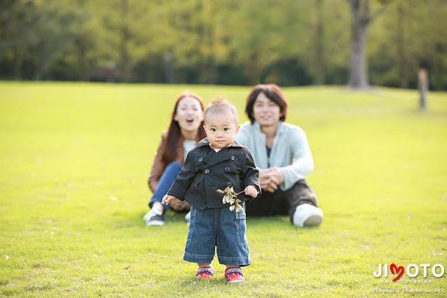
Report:
<svg viewBox="0 0 447 298"><path fill-rule="evenodd" d="M175 115L177 114L177 106L179 105L179 101L182 100L184 97L193 97L194 99L197 99L200 108L202 109L202 112L205 111L205 108L203 107L203 101L202 99L193 92L184 91L182 92L175 101L174 105L174 111L172 118L170 120L170 125L168 129L168 138L166 142L166 150L163 152L163 156L161 157L161 160L164 164L169 164L170 162L173 162L177 157L177 146L179 146L179 139L182 138L182 130L180 129L179 122L175 121ZM203 129L203 120L200 126L198 127L198 138L199 140L205 138L205 129Z"/></svg>

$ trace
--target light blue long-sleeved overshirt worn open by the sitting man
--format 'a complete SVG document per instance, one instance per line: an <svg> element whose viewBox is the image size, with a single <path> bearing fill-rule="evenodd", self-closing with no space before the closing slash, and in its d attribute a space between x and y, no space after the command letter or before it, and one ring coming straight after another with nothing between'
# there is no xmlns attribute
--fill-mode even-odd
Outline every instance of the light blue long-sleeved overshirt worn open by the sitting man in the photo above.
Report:
<svg viewBox="0 0 447 298"><path fill-rule="evenodd" d="M314 159L307 143L306 133L298 126L279 121L270 157L267 157L265 134L258 122L245 122L235 141L247 147L253 155L256 167L267 169L277 166L284 173L284 183L279 187L286 191L298 180L314 171Z"/></svg>

